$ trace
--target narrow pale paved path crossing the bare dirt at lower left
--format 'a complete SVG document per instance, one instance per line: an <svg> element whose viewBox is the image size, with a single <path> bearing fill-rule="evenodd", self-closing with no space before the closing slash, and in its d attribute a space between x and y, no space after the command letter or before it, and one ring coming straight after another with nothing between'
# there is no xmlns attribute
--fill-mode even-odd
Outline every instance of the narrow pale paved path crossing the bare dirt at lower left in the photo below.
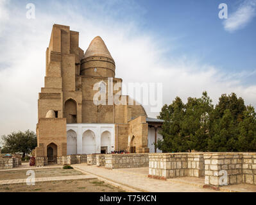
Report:
<svg viewBox="0 0 256 205"><path fill-rule="evenodd" d="M47 181L67 181L67 180L81 180L81 179L97 179L97 177L92 175L78 175L78 176L60 176L60 177L40 177L35 178L35 183L47 182ZM27 179L8 179L1 180L0 185L3 184L24 184Z"/></svg>

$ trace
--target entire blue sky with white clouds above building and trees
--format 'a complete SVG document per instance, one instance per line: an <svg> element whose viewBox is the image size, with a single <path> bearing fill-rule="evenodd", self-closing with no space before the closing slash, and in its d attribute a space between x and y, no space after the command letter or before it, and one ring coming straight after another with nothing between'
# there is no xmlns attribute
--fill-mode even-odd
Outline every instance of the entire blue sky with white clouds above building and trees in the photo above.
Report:
<svg viewBox="0 0 256 205"><path fill-rule="evenodd" d="M227 19L219 18L221 3ZM79 31L84 51L99 35L115 76L162 83L163 104L206 90L214 104L235 92L256 106L256 0L0 0L0 135L35 131L53 24Z"/></svg>

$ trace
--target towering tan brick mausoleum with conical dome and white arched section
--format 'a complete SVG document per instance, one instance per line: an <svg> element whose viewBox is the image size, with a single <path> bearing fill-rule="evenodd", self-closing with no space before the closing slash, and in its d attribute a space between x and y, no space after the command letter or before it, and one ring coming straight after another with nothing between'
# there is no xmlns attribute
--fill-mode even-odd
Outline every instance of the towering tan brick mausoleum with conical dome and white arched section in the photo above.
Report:
<svg viewBox="0 0 256 205"><path fill-rule="evenodd" d="M162 120L148 118L141 104L122 95L121 87L113 89L122 79L115 78L115 61L105 42L95 37L85 53L78 43L77 31L53 25L38 96L37 161L46 165L70 154L120 150L160 152L154 142L162 138ZM97 95L107 103L96 104ZM109 103L114 96L126 102Z"/></svg>

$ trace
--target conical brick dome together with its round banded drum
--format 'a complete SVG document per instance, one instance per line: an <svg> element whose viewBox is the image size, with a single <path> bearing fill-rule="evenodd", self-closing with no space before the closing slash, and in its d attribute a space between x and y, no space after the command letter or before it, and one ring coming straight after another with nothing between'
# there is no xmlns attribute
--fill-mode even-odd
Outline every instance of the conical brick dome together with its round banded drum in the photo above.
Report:
<svg viewBox="0 0 256 205"><path fill-rule="evenodd" d="M101 37L95 37L81 59L82 76L115 77L115 61Z"/></svg>

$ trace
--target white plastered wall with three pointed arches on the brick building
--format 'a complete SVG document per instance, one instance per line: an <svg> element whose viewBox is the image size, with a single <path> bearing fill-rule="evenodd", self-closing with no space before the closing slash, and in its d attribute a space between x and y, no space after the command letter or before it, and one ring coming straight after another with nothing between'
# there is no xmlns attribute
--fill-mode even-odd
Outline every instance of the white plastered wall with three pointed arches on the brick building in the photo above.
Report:
<svg viewBox="0 0 256 205"><path fill-rule="evenodd" d="M107 153L114 151L115 125L100 123L67 124L67 154Z"/></svg>

